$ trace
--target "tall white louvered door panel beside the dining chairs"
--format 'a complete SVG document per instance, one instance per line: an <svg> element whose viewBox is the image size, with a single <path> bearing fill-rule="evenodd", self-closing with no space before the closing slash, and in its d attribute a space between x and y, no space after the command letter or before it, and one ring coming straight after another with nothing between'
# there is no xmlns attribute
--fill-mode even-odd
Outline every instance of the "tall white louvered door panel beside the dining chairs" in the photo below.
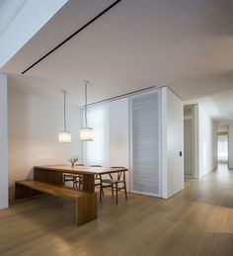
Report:
<svg viewBox="0 0 233 256"><path fill-rule="evenodd" d="M161 197L161 91L131 96L130 191Z"/></svg>

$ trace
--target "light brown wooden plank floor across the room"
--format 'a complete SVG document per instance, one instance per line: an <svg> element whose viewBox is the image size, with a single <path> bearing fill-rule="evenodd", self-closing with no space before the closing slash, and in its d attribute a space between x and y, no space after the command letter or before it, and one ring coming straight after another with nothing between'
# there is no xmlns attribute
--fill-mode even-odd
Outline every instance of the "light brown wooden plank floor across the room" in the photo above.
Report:
<svg viewBox="0 0 233 256"><path fill-rule="evenodd" d="M224 167L169 200L111 195L74 223L69 200L37 196L0 211L0 255L233 255L233 171Z"/></svg>

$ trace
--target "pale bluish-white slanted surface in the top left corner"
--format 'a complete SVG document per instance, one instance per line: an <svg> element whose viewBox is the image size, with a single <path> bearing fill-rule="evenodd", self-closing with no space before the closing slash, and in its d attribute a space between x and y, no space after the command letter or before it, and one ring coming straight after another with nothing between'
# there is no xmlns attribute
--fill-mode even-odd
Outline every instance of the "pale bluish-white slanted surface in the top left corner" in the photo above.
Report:
<svg viewBox="0 0 233 256"><path fill-rule="evenodd" d="M9 1L10 2L10 1ZM15 1L17 2L17 0ZM67 2L27 0L0 37L0 68ZM13 8L14 3L9 7ZM18 3L15 3L16 8ZM8 10L6 9L5 12Z"/></svg>

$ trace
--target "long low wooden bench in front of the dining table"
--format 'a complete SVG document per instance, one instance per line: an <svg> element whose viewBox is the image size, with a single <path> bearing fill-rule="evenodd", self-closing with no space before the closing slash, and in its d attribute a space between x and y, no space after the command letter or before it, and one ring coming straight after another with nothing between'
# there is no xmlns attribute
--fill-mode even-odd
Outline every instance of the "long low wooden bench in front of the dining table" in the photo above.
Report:
<svg viewBox="0 0 233 256"><path fill-rule="evenodd" d="M31 197L40 193L75 200L77 225L81 225L97 218L96 193L86 193L78 190L72 190L60 185L53 185L36 180L16 182L16 199Z"/></svg>

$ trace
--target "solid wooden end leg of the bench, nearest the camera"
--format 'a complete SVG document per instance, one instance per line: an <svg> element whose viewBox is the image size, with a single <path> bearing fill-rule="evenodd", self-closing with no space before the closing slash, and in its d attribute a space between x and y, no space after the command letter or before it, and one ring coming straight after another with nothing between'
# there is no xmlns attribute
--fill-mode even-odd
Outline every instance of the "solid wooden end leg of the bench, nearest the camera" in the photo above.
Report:
<svg viewBox="0 0 233 256"><path fill-rule="evenodd" d="M76 199L76 224L81 225L97 218L97 194Z"/></svg>

